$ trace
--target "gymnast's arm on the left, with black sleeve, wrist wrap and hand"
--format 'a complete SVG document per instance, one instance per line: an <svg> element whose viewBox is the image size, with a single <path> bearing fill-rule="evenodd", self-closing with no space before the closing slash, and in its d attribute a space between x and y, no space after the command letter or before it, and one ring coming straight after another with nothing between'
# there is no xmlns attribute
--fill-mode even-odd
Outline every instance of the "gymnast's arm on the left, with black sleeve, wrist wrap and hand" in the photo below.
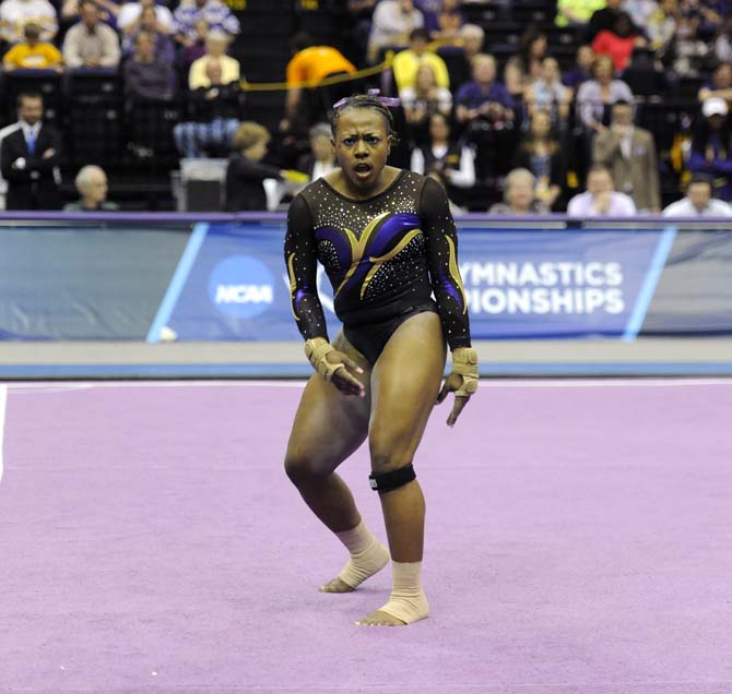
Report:
<svg viewBox="0 0 732 694"><path fill-rule="evenodd" d="M328 343L328 326L318 298L318 253L310 211L297 195L287 212L285 264L290 277L290 300L297 327L305 338L305 354L314 369L332 381L339 391L364 397L364 386L353 373L363 369Z"/></svg>

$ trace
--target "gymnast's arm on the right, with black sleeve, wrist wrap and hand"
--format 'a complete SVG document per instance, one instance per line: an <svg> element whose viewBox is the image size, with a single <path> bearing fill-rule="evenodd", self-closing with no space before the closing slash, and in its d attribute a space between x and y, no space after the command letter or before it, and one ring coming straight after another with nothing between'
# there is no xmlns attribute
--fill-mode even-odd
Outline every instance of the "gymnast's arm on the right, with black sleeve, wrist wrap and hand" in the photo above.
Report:
<svg viewBox="0 0 732 694"><path fill-rule="evenodd" d="M477 390L477 355L471 347L468 302L458 267L458 235L447 194L439 183L425 181L420 200L422 230L427 238L432 287L448 345L452 370L437 396L441 403L454 393L454 405L447 423L457 421L470 396Z"/></svg>

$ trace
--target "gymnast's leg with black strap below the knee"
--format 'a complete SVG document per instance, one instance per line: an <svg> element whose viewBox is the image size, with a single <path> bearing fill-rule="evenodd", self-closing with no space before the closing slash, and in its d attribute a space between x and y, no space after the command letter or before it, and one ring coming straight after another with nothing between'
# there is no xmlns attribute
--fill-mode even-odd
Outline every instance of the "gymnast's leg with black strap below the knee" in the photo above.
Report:
<svg viewBox="0 0 732 694"><path fill-rule="evenodd" d="M362 625L408 624L429 614L421 575L425 502L409 466L437 398L445 358L439 316L424 312L397 328L374 367L368 442L373 477L383 484L379 496L394 585L387 605L357 622Z"/></svg>

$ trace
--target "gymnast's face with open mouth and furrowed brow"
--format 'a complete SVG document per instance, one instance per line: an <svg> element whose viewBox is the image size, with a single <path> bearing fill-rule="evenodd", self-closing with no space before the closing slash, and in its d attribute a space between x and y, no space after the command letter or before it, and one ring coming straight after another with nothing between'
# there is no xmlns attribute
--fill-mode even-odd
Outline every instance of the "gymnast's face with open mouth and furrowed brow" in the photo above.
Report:
<svg viewBox="0 0 732 694"><path fill-rule="evenodd" d="M387 122L370 108L350 108L339 116L333 137L343 176L354 189L378 187L389 157Z"/></svg>

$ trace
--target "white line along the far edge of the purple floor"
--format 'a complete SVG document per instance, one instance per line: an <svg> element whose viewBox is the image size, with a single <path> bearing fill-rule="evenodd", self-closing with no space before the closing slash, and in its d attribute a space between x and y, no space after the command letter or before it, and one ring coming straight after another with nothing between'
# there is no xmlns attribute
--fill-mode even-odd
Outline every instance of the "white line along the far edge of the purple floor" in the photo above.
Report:
<svg viewBox="0 0 732 694"><path fill-rule="evenodd" d="M484 388L587 388L587 387L682 387L692 385L727 385L732 386L732 378L669 378L669 379L482 379ZM7 387L22 394L60 393L88 388L169 388L169 387L272 387L272 388L303 388L303 380L251 381L244 379L209 380L209 381L81 381L81 382L5 382L0 387Z"/></svg>

